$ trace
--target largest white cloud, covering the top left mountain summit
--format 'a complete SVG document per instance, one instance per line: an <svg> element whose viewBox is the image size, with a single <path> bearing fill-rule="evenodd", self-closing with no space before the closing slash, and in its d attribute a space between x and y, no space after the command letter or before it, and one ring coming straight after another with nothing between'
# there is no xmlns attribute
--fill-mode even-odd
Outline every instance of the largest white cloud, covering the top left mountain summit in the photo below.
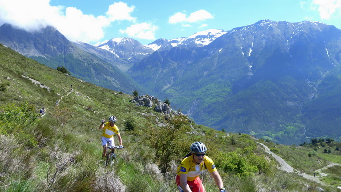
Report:
<svg viewBox="0 0 341 192"><path fill-rule="evenodd" d="M104 36L111 22L128 20L134 6L118 2L110 5L104 16L87 15L74 7L51 6L50 0L0 0L0 25L4 23L27 31L47 25L57 28L69 40L96 42Z"/></svg>

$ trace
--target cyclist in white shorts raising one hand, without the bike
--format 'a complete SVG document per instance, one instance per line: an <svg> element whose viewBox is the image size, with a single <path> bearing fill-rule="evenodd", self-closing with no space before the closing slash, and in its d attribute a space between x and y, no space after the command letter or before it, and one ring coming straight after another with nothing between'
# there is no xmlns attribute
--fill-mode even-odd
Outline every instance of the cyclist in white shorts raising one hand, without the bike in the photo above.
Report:
<svg viewBox="0 0 341 192"><path fill-rule="evenodd" d="M109 122L105 123L105 119L102 119L102 124L99 126L98 129L103 129L102 134L102 146L103 146L103 153L102 158L105 158L105 155L107 154L107 148L105 148L108 144L108 146L115 146L114 142L114 133L117 134L118 141L120 144L120 148L124 148L122 144L122 138L121 134L119 133L118 127L115 125L117 121L117 118L115 116L109 117Z"/></svg>

